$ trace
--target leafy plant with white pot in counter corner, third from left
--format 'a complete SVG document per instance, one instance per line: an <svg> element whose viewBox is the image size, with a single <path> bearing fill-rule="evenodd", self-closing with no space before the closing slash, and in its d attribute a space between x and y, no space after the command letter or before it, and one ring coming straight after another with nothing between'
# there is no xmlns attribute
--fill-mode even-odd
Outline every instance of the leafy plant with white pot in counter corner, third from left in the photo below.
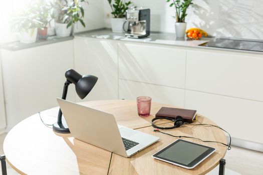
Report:
<svg viewBox="0 0 263 175"><path fill-rule="evenodd" d="M52 17L55 19L55 31L58 36L69 36L71 28L74 23L80 21L85 27L83 21L84 9L81 6L81 2L87 2L86 0L55 0L52 2L53 12Z"/></svg>

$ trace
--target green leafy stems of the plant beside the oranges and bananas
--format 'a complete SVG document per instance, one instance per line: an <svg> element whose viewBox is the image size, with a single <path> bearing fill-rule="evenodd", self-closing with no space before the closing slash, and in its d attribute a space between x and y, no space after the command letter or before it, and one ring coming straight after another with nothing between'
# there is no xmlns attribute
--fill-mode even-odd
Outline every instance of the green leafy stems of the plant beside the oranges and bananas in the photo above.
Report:
<svg viewBox="0 0 263 175"><path fill-rule="evenodd" d="M171 0L166 0L166 2L170 2ZM173 0L172 3L170 3L170 7L174 6L176 13L175 18L176 22L185 22L185 16L187 15L186 11L187 8L193 4L193 0Z"/></svg>

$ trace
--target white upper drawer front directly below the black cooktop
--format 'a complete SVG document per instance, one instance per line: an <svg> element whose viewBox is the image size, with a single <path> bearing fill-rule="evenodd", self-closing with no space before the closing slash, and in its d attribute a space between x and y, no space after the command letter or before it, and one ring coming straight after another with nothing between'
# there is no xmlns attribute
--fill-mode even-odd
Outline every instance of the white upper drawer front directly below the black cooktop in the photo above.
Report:
<svg viewBox="0 0 263 175"><path fill-rule="evenodd" d="M263 101L263 54L188 50L186 64L186 89Z"/></svg>

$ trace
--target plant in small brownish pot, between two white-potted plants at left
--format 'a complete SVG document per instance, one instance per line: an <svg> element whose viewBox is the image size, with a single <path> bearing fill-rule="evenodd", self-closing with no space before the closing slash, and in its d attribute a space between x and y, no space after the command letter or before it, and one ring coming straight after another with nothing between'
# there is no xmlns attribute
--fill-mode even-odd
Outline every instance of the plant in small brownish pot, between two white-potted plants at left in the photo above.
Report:
<svg viewBox="0 0 263 175"><path fill-rule="evenodd" d="M36 12L39 20L42 22L38 28L38 38L47 39L48 38L48 27L52 20L50 16L51 4L46 3L44 0L39 0L36 5Z"/></svg>

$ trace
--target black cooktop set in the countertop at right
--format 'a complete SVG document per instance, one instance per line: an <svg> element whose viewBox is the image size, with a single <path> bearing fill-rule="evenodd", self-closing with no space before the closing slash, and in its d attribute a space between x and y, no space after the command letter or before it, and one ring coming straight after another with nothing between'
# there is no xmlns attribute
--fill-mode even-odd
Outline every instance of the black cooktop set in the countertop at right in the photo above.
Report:
<svg viewBox="0 0 263 175"><path fill-rule="evenodd" d="M201 46L231 48L231 49L238 49L238 50L262 51L263 52L263 42L250 41L250 40L234 40L234 39L216 38L216 39L210 40L209 42L201 44Z"/></svg>

